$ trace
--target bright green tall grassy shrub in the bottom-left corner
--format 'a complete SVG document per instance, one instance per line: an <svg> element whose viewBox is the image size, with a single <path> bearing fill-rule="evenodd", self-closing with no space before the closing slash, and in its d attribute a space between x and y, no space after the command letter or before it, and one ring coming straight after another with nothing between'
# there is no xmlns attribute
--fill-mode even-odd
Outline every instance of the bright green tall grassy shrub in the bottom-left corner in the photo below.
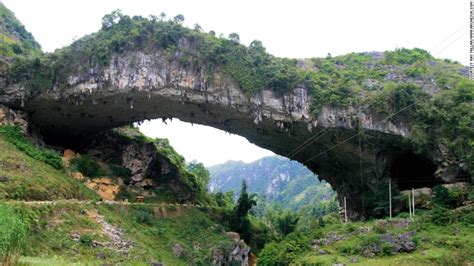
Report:
<svg viewBox="0 0 474 266"><path fill-rule="evenodd" d="M18 262L29 230L29 221L25 217L8 206L0 205L0 264Z"/></svg>

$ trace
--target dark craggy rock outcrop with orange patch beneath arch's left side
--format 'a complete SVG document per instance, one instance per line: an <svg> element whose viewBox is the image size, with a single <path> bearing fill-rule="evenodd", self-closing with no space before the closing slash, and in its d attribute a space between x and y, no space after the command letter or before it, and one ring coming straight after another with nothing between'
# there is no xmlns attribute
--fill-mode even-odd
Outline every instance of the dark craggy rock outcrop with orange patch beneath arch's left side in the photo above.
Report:
<svg viewBox="0 0 474 266"><path fill-rule="evenodd" d="M90 154L102 162L113 163L130 170L130 178L121 179L128 189L139 194L148 195L148 189L167 187L179 196L180 201L192 198L189 185L182 183L186 173L179 166L160 152L153 142L134 138L134 130L118 128L90 135L84 139L84 144L78 146L82 154ZM98 188L99 194L109 199L118 193L118 185L106 184L100 179L88 183ZM96 189L97 190L97 189Z"/></svg>

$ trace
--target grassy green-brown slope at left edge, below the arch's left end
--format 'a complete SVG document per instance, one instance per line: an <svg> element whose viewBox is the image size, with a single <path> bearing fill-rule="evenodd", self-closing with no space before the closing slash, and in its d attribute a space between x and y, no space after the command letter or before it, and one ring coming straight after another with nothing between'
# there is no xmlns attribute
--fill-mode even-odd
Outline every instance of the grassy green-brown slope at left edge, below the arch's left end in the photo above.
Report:
<svg viewBox="0 0 474 266"><path fill-rule="evenodd" d="M22 135L18 127L0 127L0 150L2 200L97 197L62 169L61 158L54 151L37 147Z"/></svg>

